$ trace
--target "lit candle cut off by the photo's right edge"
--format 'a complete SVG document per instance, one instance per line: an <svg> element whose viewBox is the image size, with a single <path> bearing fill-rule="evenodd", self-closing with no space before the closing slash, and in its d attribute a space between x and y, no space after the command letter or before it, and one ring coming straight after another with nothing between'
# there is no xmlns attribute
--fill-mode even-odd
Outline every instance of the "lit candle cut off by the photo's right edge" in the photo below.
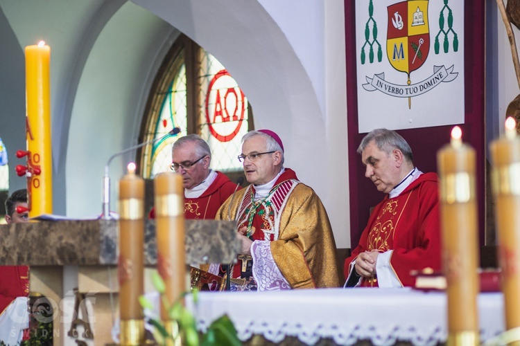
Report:
<svg viewBox="0 0 520 346"><path fill-rule="evenodd" d="M520 139L512 117L490 149L505 327L512 329L520 327Z"/></svg>

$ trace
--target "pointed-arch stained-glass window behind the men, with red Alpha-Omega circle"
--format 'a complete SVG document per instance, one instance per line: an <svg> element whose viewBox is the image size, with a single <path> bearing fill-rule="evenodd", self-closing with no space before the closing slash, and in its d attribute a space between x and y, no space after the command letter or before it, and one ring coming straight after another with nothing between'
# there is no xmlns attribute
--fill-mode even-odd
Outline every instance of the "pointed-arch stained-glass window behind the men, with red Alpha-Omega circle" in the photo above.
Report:
<svg viewBox="0 0 520 346"><path fill-rule="evenodd" d="M166 55L144 117L141 139L155 140L140 153L141 174L152 179L169 170L177 138L198 134L211 149L211 168L233 175L241 138L252 129L250 104L216 57L182 35ZM173 127L181 131L168 135Z"/></svg>

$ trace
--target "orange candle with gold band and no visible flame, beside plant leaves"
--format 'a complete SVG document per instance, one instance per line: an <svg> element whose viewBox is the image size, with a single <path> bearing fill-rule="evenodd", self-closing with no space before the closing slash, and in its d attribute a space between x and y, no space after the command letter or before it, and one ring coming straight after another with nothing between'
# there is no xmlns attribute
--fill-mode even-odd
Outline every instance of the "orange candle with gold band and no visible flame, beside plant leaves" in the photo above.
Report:
<svg viewBox="0 0 520 346"><path fill-rule="evenodd" d="M184 190L182 176L173 172L157 174L155 189L155 229L157 232L157 271L166 286L169 303L189 290L184 255ZM162 320L168 320L161 306Z"/></svg>

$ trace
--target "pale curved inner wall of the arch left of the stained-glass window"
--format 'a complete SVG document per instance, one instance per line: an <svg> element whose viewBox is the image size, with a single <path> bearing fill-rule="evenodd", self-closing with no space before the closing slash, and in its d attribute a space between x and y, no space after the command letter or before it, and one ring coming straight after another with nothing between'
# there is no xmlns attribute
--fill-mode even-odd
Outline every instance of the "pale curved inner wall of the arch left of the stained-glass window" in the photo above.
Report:
<svg viewBox="0 0 520 346"><path fill-rule="evenodd" d="M150 12L127 2L110 18L89 51L73 102L67 148L67 215L101 213L108 158L137 143L157 46L173 31ZM154 71L155 72L155 71ZM135 153L114 159L111 207L117 182ZM81 197L81 198L78 198Z"/></svg>

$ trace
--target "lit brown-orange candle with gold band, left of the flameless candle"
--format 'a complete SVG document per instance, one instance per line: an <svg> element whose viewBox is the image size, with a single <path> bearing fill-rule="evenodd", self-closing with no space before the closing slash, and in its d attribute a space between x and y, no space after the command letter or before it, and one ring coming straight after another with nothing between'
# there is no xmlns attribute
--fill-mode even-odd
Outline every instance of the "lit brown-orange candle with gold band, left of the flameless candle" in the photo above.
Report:
<svg viewBox="0 0 520 346"><path fill-rule="evenodd" d="M119 311L121 345L143 345L144 180L135 163L119 181Z"/></svg>

